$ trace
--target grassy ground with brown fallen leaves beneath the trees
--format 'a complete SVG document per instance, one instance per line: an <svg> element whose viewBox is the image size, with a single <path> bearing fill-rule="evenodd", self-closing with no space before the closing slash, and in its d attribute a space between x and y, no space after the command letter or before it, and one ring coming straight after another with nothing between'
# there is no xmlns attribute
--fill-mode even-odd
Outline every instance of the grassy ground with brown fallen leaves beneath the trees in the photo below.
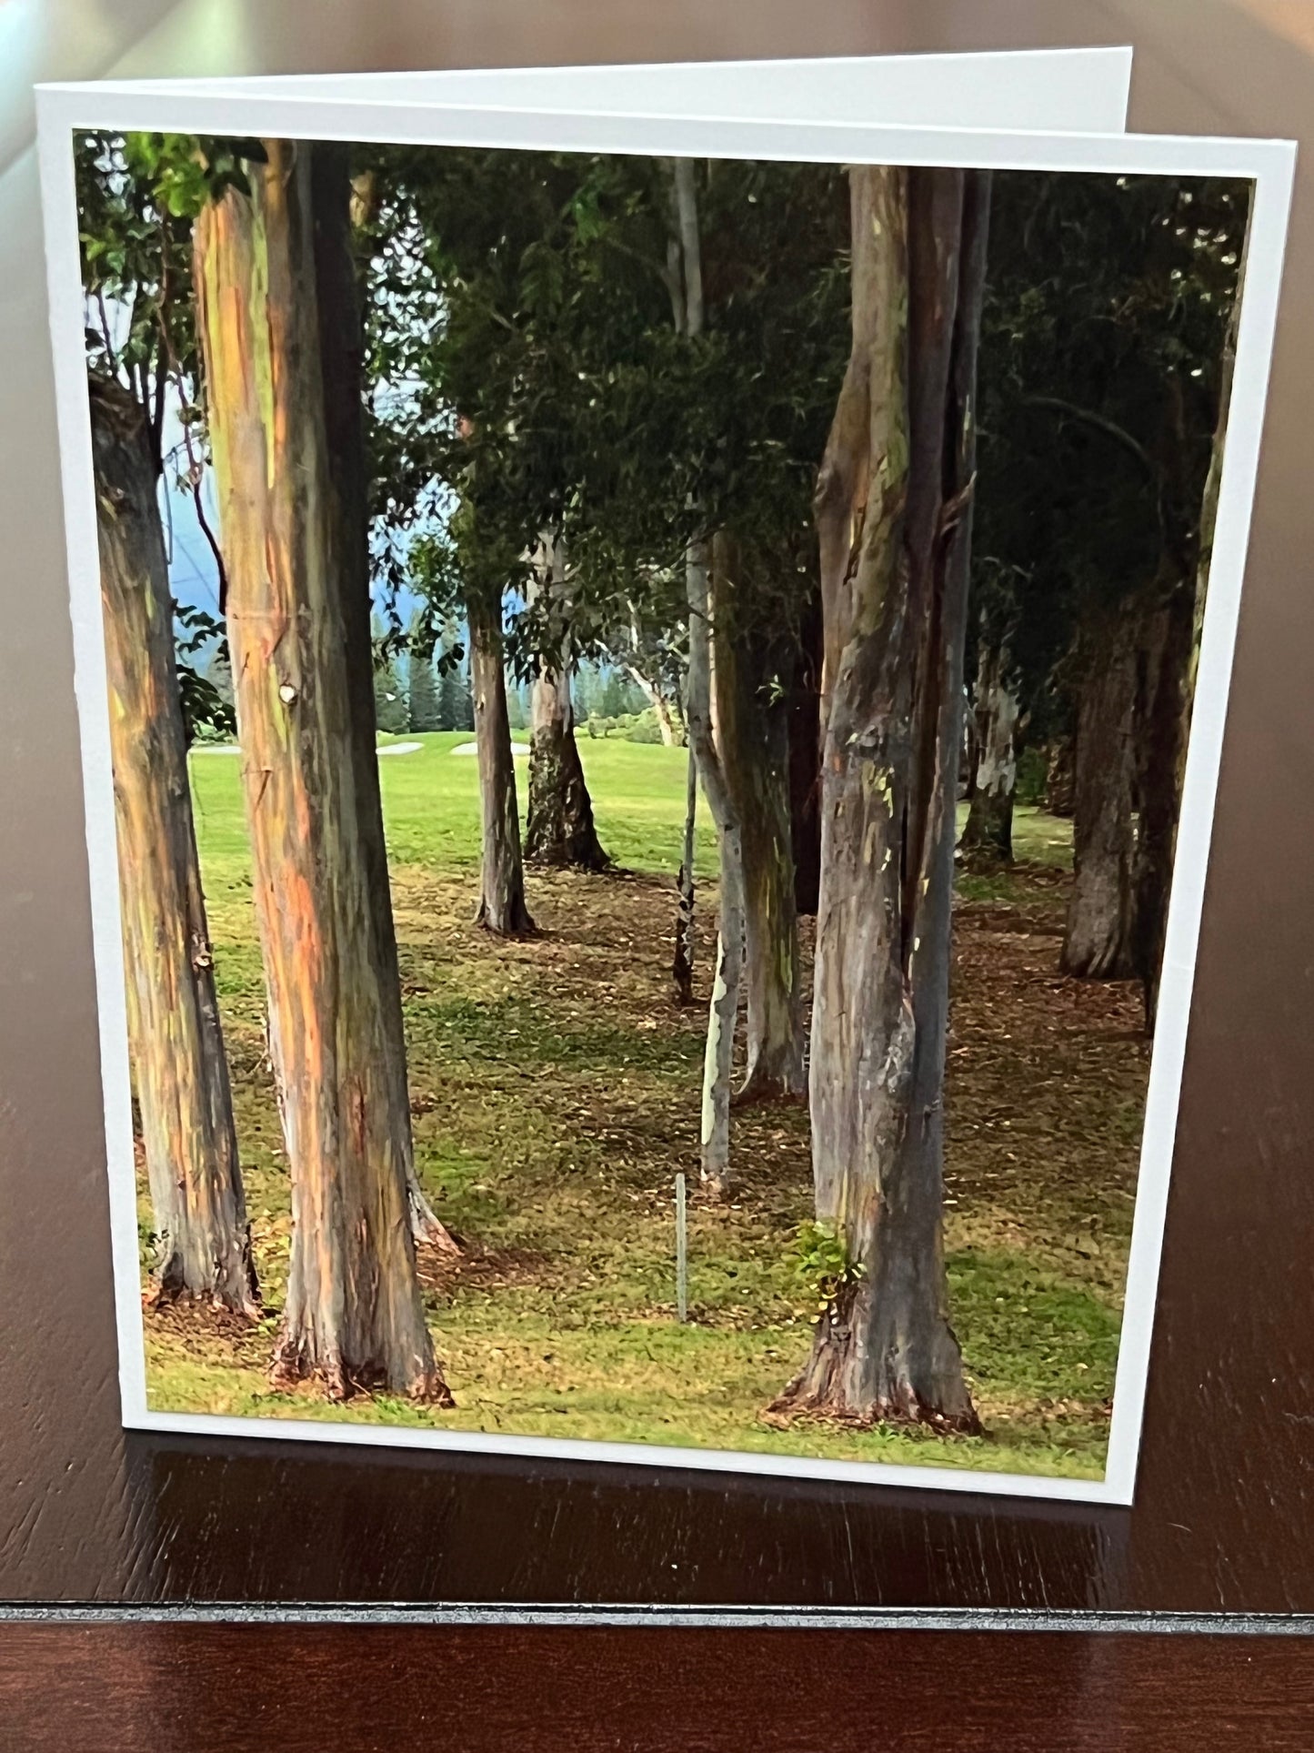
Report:
<svg viewBox="0 0 1314 1753"><path fill-rule="evenodd" d="M802 1104L736 1111L739 1192L701 1197L704 1011L673 1008L668 975L683 752L582 738L622 871L531 873L543 934L501 943L471 924L478 777L450 759L461 740L422 736L380 766L417 1162L464 1250L456 1269L429 1250L420 1262L456 1409L268 1387L289 1183L238 764L221 754L193 757L193 785L266 1318L147 1311L151 1406L1102 1476L1149 1052L1135 989L1056 973L1069 824L1020 810L1020 862L958 884L946 1262L985 1436L774 1429L764 1408L811 1339L795 1241L808 1120ZM706 824L699 868L715 868ZM701 999L713 926L704 887ZM676 1169L692 1201L687 1325ZM140 1222L145 1243L145 1199Z"/></svg>

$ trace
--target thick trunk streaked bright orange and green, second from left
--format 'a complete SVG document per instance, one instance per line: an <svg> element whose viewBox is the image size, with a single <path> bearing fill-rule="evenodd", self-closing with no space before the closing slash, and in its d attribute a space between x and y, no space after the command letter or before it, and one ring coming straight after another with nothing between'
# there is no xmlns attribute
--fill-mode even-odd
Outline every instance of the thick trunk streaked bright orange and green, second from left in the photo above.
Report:
<svg viewBox="0 0 1314 1753"><path fill-rule="evenodd" d="M228 631L293 1183L273 1380L450 1399L410 1227L410 1117L361 833L321 359L314 149L268 140L251 196L196 221L198 330L228 563Z"/></svg>

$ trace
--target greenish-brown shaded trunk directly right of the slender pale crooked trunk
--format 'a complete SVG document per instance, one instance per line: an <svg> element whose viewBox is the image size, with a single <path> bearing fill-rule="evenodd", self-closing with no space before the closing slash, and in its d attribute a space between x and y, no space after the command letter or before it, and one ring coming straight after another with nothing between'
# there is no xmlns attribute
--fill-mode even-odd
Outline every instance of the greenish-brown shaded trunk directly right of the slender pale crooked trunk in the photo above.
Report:
<svg viewBox="0 0 1314 1753"><path fill-rule="evenodd" d="M722 573L734 543L718 536L713 598L738 594ZM729 619L729 617L722 617ZM745 899L746 1071L736 1104L802 1096L802 962L794 905L788 703L773 643L757 631L713 631L717 745L739 822ZM773 685L774 684L774 685Z"/></svg>

